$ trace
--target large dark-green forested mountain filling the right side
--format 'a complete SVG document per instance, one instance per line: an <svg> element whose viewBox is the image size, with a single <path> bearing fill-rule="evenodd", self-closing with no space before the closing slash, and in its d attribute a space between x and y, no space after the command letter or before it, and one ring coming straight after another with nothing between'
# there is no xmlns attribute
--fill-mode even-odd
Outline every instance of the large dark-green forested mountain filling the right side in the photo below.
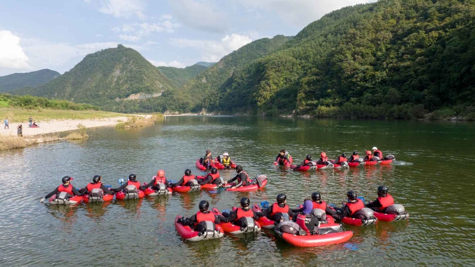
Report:
<svg viewBox="0 0 475 267"><path fill-rule="evenodd" d="M207 107L389 118L475 112L474 8L467 0L379 0L331 12L236 70Z"/></svg>

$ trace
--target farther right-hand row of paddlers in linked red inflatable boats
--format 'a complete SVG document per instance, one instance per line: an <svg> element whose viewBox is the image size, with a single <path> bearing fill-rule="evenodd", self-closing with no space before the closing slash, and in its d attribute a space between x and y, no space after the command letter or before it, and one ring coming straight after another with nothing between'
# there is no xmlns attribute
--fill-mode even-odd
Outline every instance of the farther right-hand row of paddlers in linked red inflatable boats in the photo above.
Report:
<svg viewBox="0 0 475 267"><path fill-rule="evenodd" d="M349 159L347 158L347 155L343 153L340 156L338 156L337 159L331 160L331 159L328 159L326 152L322 151L320 153L320 158L317 161L313 161L312 156L307 155L304 161L302 161L302 163L297 165L297 167L311 166L314 164L328 165L328 164L342 164L343 162L380 161L380 160L386 160L386 159L392 159L392 158L384 158L383 152L381 152L381 150L378 150L377 147L373 147L371 150L367 150L366 156L363 158L360 158L357 151L353 151L353 154L350 156ZM289 165L292 163L293 163L292 156L289 154L289 152L287 152L284 149L280 150L280 153L277 155L274 162L274 164L278 164L278 165Z"/></svg>

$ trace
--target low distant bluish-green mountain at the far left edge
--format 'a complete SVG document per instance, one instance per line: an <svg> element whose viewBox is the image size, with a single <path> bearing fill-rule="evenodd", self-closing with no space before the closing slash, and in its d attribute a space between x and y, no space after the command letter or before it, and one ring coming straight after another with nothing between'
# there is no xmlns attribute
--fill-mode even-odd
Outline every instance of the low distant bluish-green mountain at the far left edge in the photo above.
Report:
<svg viewBox="0 0 475 267"><path fill-rule="evenodd" d="M59 72L42 69L26 73L13 73L0 77L0 92L9 92L11 90L24 86L36 86L51 81L61 75Z"/></svg>

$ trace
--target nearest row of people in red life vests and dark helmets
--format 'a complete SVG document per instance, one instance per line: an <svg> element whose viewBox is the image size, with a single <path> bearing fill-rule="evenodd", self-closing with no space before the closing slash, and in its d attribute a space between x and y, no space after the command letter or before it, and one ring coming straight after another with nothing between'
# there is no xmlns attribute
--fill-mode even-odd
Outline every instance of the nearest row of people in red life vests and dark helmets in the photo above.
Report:
<svg viewBox="0 0 475 267"><path fill-rule="evenodd" d="M232 224L244 228L248 226L249 220L259 220L263 216L274 221L274 225L278 225L283 221L292 220L300 229L306 233L303 235L318 235L327 234L328 231L321 233L319 230L320 224L326 223L326 216L329 215L334 219L342 220L344 217L360 218L358 217L360 210L370 208L374 211L385 212L386 208L394 205L393 197L388 193L386 186L379 186L377 188L377 198L369 203L363 203L358 199L354 191L347 192L348 202L342 208L330 207L325 201L321 199L319 192L314 192L311 198L306 198L303 205L299 208L291 209L287 205L287 195L278 194L276 202L269 205L264 210L256 211L251 208L251 201L248 197L241 198L241 207L236 208L231 212L223 212L215 214L209 211L209 202L207 200L200 201L199 211L189 217L181 217L178 223L184 226L194 227L195 231L204 233L209 226L206 222L211 221L214 224L221 222L231 222ZM213 226L214 229L214 226ZM280 228L281 231L286 231L285 228Z"/></svg>

